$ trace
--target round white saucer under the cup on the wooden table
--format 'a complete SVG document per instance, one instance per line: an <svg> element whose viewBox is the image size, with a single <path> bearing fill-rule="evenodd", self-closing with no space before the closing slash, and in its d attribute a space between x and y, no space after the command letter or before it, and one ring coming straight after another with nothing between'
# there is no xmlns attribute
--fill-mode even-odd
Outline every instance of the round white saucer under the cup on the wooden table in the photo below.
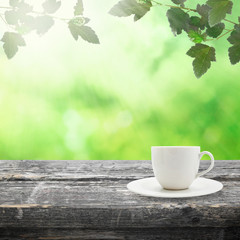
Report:
<svg viewBox="0 0 240 240"><path fill-rule="evenodd" d="M216 180L199 177L188 189L166 190L159 185L155 177L150 177L132 181L127 185L127 188L131 192L148 197L185 198L215 193L220 191L223 185Z"/></svg>

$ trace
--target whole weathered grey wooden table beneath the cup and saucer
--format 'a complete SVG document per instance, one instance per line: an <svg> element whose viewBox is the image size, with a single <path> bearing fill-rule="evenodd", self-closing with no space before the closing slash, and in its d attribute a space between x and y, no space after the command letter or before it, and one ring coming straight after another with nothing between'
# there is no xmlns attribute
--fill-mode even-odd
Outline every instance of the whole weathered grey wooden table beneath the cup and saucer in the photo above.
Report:
<svg viewBox="0 0 240 240"><path fill-rule="evenodd" d="M150 161L1 160L0 239L240 239L240 161L216 161L208 196L127 190L150 176Z"/></svg>

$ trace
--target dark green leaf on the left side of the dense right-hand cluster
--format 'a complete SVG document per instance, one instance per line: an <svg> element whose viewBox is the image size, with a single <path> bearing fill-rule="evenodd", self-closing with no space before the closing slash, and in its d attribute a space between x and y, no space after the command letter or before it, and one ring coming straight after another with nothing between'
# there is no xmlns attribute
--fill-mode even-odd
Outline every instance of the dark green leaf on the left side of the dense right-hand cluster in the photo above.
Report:
<svg viewBox="0 0 240 240"><path fill-rule="evenodd" d="M189 29L189 15L179 8L170 8L167 11L168 21L174 35L181 34L182 30Z"/></svg>

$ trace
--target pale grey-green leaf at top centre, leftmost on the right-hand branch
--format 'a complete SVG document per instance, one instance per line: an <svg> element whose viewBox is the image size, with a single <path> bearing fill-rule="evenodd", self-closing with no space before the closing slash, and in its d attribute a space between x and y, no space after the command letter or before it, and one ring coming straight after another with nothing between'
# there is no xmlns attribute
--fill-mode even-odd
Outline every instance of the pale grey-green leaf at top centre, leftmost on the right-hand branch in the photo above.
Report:
<svg viewBox="0 0 240 240"><path fill-rule="evenodd" d="M150 11L151 7L152 3L149 0L143 3L138 3L136 0L121 0L111 8L109 13L117 17L134 15L134 21L137 21Z"/></svg>

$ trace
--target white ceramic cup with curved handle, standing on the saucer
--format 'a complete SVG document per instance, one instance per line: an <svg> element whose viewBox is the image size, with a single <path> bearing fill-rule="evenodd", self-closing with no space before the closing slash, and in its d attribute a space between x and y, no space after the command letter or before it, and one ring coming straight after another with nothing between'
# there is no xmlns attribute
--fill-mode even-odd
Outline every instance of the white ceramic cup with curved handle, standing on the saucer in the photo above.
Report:
<svg viewBox="0 0 240 240"><path fill-rule="evenodd" d="M151 148L152 167L159 184L165 189L188 188L194 179L209 172L214 166L210 152L200 152L193 146L156 146ZM204 154L211 158L210 167L198 173L200 160Z"/></svg>

